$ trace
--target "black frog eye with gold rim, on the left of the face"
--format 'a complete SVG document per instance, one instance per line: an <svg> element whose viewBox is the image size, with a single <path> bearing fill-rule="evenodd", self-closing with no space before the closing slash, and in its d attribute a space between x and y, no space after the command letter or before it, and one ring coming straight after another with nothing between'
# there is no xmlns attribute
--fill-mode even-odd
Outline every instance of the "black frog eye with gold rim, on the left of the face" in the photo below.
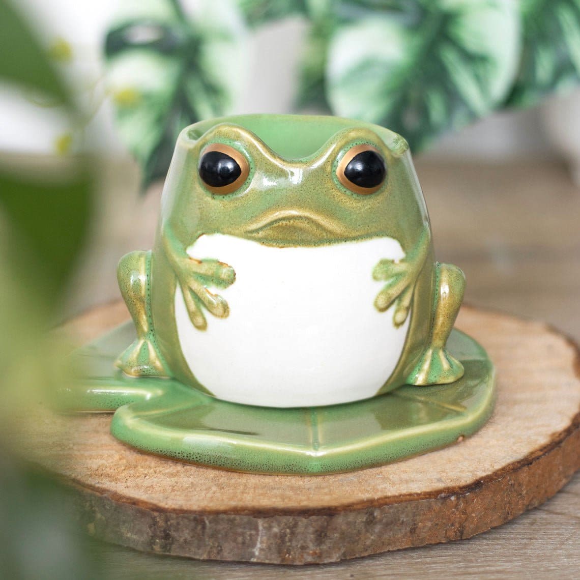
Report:
<svg viewBox="0 0 580 580"><path fill-rule="evenodd" d="M214 143L204 149L198 172L209 191L225 195L245 183L249 165L240 151L223 143Z"/></svg>

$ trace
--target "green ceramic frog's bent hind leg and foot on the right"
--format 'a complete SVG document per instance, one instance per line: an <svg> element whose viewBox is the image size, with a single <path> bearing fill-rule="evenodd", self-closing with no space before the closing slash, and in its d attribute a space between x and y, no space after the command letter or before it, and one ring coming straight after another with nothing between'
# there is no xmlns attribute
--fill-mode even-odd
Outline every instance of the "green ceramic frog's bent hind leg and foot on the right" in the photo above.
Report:
<svg viewBox="0 0 580 580"><path fill-rule="evenodd" d="M464 290L465 275L457 266L435 264L435 297L429 346L408 376L408 385L445 385L463 376L463 365L451 356L446 345L461 307Z"/></svg>

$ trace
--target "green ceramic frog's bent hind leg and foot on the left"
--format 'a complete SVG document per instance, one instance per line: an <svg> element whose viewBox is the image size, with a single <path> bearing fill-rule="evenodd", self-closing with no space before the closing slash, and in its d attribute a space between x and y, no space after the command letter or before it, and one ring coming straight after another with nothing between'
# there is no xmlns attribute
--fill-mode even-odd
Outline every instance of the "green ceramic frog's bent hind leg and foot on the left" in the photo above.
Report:
<svg viewBox="0 0 580 580"><path fill-rule="evenodd" d="M155 343L151 317L151 252L131 252L119 260L117 280L137 331L137 338L115 361L129 376L169 376Z"/></svg>

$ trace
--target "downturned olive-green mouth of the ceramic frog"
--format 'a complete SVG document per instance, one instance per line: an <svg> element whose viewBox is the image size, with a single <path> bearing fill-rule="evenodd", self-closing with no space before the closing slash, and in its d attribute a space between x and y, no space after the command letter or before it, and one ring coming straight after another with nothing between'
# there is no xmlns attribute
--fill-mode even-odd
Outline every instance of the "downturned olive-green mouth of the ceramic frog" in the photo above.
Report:
<svg viewBox="0 0 580 580"><path fill-rule="evenodd" d="M263 242L302 245L336 240L340 228L328 218L289 209L260 216L247 235Z"/></svg>

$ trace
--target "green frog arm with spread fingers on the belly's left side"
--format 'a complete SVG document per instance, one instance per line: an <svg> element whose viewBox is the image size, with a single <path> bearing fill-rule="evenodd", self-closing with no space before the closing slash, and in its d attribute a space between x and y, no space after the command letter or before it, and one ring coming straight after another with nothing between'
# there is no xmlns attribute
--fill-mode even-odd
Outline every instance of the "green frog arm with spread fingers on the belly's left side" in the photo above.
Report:
<svg viewBox="0 0 580 580"><path fill-rule="evenodd" d="M209 291L208 286L227 288L235 281L234 269L219 260L191 258L169 225L164 227L161 237L194 327L199 330L207 328L204 308L213 316L226 318L229 314L226 300Z"/></svg>

